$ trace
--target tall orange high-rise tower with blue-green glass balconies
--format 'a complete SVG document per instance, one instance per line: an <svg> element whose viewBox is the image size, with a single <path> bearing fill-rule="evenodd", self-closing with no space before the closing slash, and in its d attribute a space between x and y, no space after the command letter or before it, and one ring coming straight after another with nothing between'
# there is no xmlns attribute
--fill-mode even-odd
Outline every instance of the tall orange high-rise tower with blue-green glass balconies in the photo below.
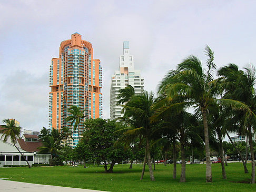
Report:
<svg viewBox="0 0 256 192"><path fill-rule="evenodd" d="M73 131L73 146L78 143L78 131L74 131L65 118L67 110L76 105L85 110L85 119L102 118L102 67L99 59L93 59L90 42L82 40L78 33L61 42L59 58L53 58L50 66L49 128ZM80 135L84 126L80 125Z"/></svg>

